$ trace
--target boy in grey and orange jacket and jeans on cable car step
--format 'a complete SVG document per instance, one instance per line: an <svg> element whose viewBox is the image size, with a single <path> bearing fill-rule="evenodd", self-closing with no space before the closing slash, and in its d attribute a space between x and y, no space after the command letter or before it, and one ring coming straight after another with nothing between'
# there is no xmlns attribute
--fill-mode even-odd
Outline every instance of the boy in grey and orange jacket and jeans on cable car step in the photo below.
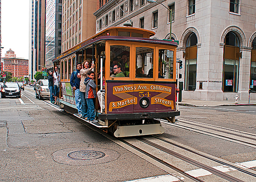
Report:
<svg viewBox="0 0 256 182"><path fill-rule="evenodd" d="M93 82L94 80L94 72L89 71L88 77L84 79L85 89L85 100L87 103L87 118L92 123L97 123L98 121L95 119L95 108L93 99L96 98L96 84Z"/></svg>

